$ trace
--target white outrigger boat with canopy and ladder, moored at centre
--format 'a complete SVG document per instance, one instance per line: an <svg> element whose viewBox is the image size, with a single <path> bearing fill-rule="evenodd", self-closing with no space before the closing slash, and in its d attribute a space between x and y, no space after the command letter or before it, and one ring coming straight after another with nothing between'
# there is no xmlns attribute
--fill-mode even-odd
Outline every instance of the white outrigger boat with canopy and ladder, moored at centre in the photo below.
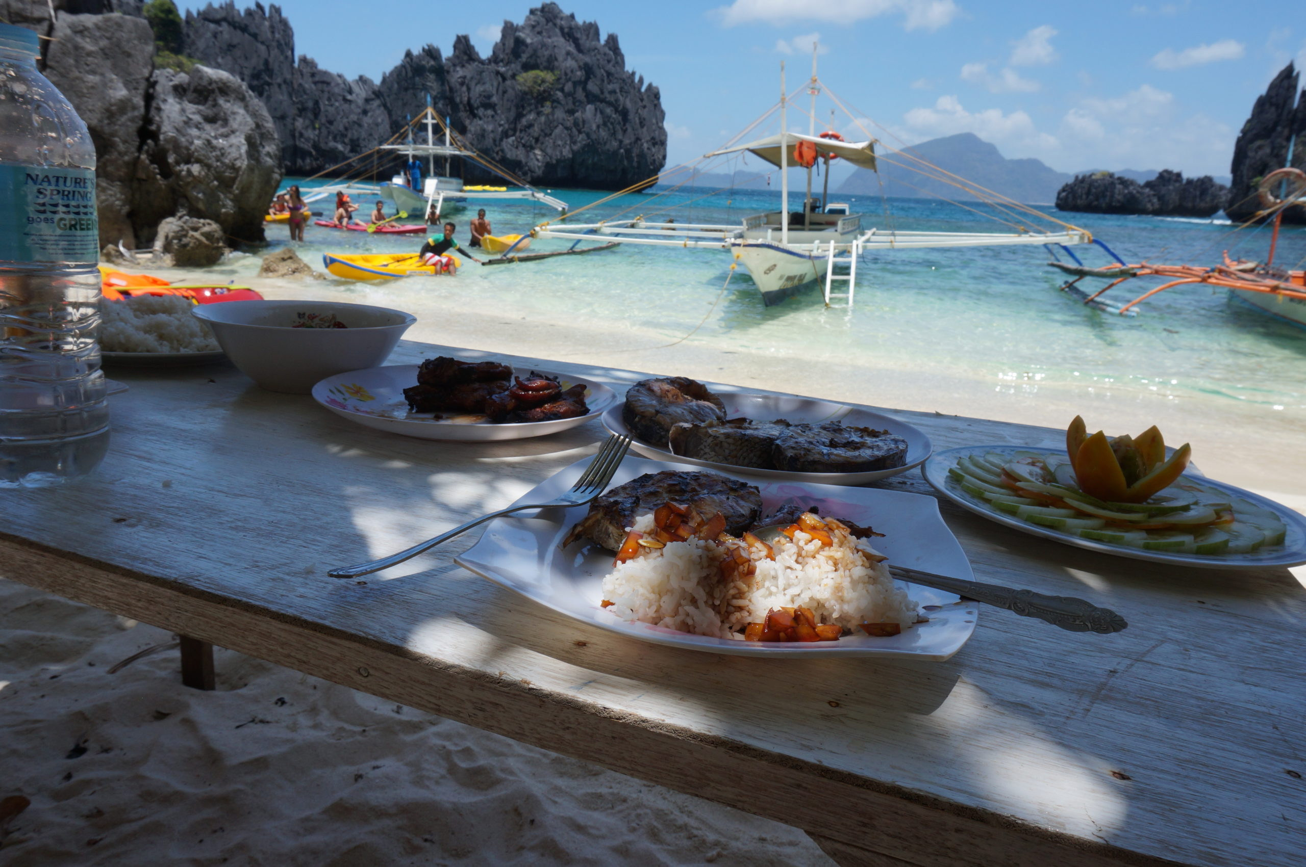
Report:
<svg viewBox="0 0 1306 867"><path fill-rule="evenodd" d="M849 307L853 306L857 264L862 253L867 251L1093 243L1092 234L1077 226L1071 226L1028 205L965 181L942 168L925 163L909 153L897 151L892 148L888 148L888 150L904 158L906 161L905 167L944 179L965 192L995 205L1006 215L1019 217L1020 223L1011 223L1019 231L1015 234L930 232L897 231L867 226L866 215L848 213L849 209L846 205L827 204L829 163L833 159L846 159L854 166L874 171L878 163L875 146L883 146L883 142L866 133L865 128L862 132L867 137L863 141L844 141L844 137L833 129L827 129L818 134L816 97L823 91L840 108L844 108L858 127L861 127L861 121L818 78L816 46L812 48L812 76L807 85L812 106L808 114L810 124L806 134L789 131L788 107L793 102L793 94L788 94L785 90L784 63L781 63L780 72L780 102L755 121L752 127L735 136L733 142L737 142L752 128L757 127L761 120L777 108L780 111L778 133L746 144L731 142L703 157L703 159L714 159L748 153L776 166L780 170L781 179L781 209L778 212L754 214L744 218L742 225L679 223L673 221L650 222L643 217L609 219L594 223L575 223L568 219L563 225L543 223L537 226L532 231L532 235L535 238L575 239L577 242L602 236L623 244L724 249L731 253L734 260L747 269L754 283L757 286L757 291L761 294L763 302L768 306L777 304L795 295L810 283L824 279L825 304L829 306L832 299L842 298L846 299ZM811 192L812 168L818 162L824 162L825 167L825 192L819 200L814 198ZM921 167L910 165L913 162ZM807 195L803 198L802 210L795 212L790 212L789 206L788 168L791 166L807 170ZM637 192L639 189L652 187L661 178L663 175L636 184L622 191L622 193ZM609 200L601 200L601 202ZM588 205L586 208L592 206ZM644 204L640 205L640 208L644 206ZM1032 219L1057 223L1059 230L1033 231L1021 225ZM841 272L844 266L846 266L846 272ZM833 291L836 281L845 281L846 291Z"/></svg>

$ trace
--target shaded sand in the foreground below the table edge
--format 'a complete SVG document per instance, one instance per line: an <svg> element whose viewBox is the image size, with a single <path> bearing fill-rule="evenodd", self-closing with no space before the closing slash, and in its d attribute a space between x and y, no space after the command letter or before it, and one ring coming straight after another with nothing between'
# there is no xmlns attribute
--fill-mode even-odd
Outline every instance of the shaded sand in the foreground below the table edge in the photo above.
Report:
<svg viewBox="0 0 1306 867"><path fill-rule="evenodd" d="M5 867L824 864L802 832L0 581ZM80 753L80 755L76 755ZM74 756L74 757L69 757Z"/></svg>

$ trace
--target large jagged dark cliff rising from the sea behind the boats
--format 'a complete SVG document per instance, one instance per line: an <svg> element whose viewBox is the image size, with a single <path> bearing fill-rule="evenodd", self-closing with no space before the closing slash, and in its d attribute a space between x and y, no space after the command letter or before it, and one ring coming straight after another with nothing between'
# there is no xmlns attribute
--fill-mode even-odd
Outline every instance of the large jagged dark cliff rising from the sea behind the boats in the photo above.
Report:
<svg viewBox="0 0 1306 867"><path fill-rule="evenodd" d="M295 60L294 33L276 5L238 10L231 0L185 17L185 54L239 77L281 136L285 170L312 175L401 132L427 104L473 148L534 184L620 188L661 171L665 114L658 89L626 69L615 34L556 4L504 22L490 57L458 37L445 59L409 51L380 84L347 80L311 57ZM380 154L374 155L379 161ZM351 170L389 163L359 161ZM469 165L469 180L488 178Z"/></svg>

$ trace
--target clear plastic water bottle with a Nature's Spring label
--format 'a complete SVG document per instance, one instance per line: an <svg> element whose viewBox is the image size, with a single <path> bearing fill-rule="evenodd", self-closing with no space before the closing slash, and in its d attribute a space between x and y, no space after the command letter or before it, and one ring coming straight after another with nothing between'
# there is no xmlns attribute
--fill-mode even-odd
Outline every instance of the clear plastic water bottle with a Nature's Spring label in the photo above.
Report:
<svg viewBox="0 0 1306 867"><path fill-rule="evenodd" d="M0 24L0 487L59 484L108 448L95 145L39 52Z"/></svg>

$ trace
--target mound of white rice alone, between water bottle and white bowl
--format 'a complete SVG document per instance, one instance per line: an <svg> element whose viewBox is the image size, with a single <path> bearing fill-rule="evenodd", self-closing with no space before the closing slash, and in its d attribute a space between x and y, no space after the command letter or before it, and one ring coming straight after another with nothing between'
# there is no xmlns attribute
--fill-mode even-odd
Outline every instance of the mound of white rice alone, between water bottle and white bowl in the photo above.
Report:
<svg viewBox="0 0 1306 867"><path fill-rule="evenodd" d="M101 304L99 347L106 353L212 353L213 332L191 316L180 295L141 295Z"/></svg>

